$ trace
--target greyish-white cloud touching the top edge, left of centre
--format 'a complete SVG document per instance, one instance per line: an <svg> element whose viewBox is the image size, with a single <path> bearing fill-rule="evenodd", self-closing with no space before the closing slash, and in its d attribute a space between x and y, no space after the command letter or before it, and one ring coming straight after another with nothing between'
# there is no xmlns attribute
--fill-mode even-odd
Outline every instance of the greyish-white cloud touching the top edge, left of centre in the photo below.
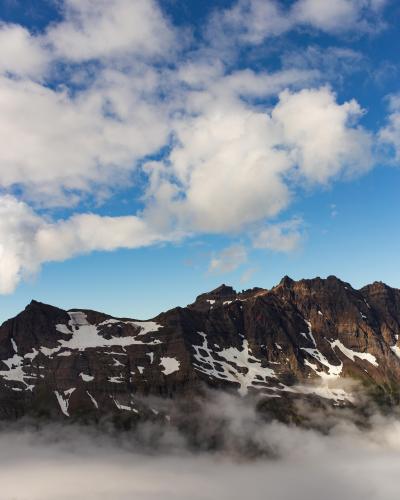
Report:
<svg viewBox="0 0 400 500"><path fill-rule="evenodd" d="M64 9L65 19L46 37L61 58L160 56L174 43L154 0L64 0Z"/></svg>

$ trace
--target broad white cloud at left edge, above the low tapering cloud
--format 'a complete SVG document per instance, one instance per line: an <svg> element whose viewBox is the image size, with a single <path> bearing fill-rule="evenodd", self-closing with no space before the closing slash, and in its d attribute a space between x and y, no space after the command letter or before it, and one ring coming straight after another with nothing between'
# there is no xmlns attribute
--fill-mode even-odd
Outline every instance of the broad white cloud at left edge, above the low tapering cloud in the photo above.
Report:
<svg viewBox="0 0 400 500"><path fill-rule="evenodd" d="M1 186L46 205L65 203L63 190L118 184L168 136L165 107L148 98L158 80L142 71L105 71L76 96L0 77Z"/></svg>

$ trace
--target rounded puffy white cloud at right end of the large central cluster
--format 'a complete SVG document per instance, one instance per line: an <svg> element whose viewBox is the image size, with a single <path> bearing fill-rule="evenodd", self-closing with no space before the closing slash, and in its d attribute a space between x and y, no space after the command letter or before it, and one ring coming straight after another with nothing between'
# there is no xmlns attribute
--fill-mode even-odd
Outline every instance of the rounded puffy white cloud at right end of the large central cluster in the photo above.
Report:
<svg viewBox="0 0 400 500"><path fill-rule="evenodd" d="M355 100L338 104L323 87L283 92L272 116L301 175L325 183L339 173L351 176L371 168L372 139L355 126L362 113Z"/></svg>

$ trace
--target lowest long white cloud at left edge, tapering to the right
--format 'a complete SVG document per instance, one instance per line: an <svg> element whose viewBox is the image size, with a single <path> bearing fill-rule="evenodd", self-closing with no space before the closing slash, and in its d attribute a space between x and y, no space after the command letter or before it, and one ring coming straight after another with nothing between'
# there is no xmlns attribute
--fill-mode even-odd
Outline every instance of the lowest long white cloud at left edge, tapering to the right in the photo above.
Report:
<svg viewBox="0 0 400 500"><path fill-rule="evenodd" d="M62 261L94 250L138 248L174 239L162 236L135 216L77 214L52 223L25 203L0 197L0 293L12 292L43 262Z"/></svg>

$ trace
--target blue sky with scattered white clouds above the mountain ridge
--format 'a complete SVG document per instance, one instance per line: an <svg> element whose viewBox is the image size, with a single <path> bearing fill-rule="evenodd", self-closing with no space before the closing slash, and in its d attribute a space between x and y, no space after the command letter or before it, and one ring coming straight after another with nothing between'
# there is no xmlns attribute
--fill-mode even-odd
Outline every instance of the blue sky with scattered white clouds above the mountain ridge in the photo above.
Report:
<svg viewBox="0 0 400 500"><path fill-rule="evenodd" d="M400 287L394 0L3 0L0 320Z"/></svg>

